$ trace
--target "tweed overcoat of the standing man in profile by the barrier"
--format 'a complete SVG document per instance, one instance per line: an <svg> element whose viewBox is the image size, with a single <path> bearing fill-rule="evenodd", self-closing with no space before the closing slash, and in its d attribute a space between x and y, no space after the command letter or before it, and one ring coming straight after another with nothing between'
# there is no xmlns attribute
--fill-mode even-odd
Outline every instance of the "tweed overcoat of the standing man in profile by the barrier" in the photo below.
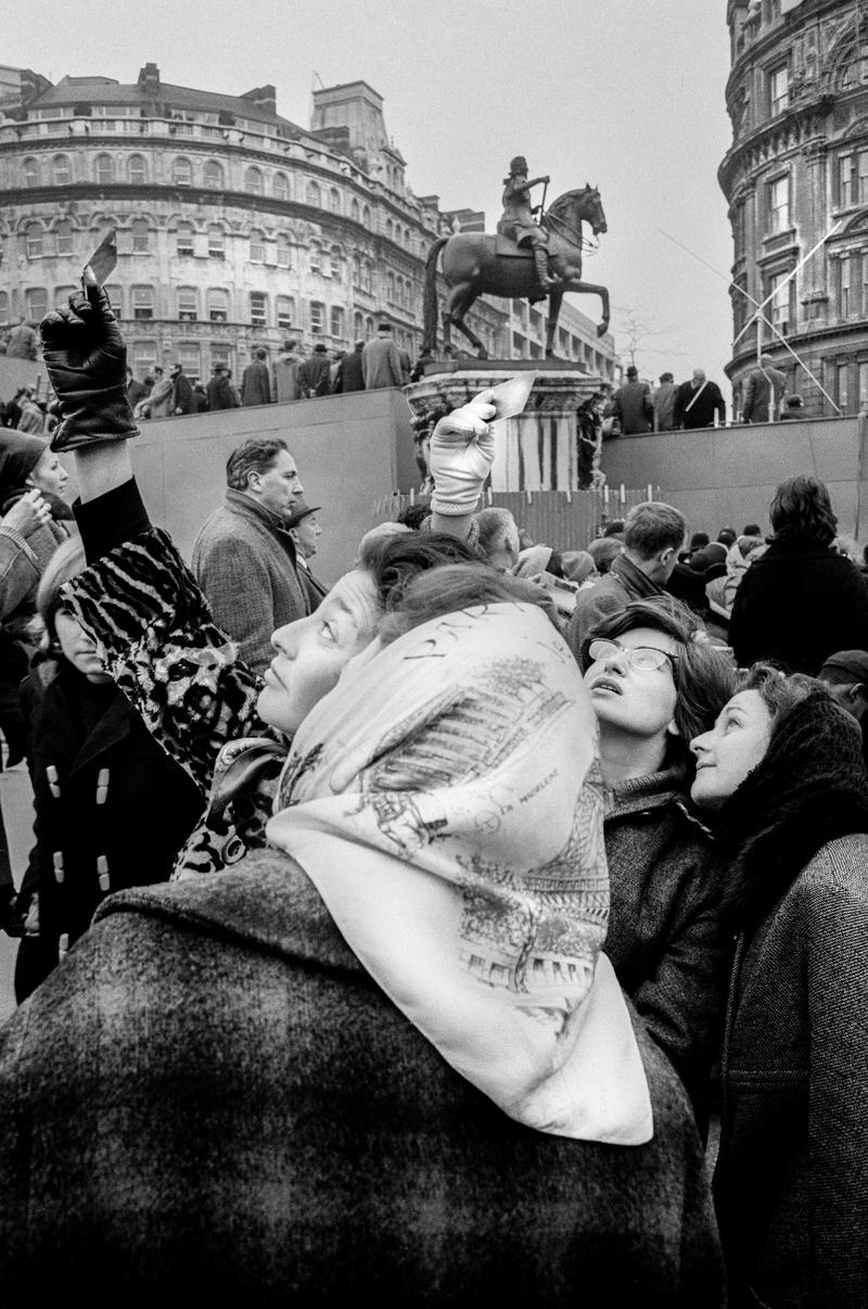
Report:
<svg viewBox="0 0 868 1309"><path fill-rule="evenodd" d="M226 491L192 547L192 571L213 619L254 673L271 662L271 634L309 613L295 542L278 518L242 491Z"/></svg>

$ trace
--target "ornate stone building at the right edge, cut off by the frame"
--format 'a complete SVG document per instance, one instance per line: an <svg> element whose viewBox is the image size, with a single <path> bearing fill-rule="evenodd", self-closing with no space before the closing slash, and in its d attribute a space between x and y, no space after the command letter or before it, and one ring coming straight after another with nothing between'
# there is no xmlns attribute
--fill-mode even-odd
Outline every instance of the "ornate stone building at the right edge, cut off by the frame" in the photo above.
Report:
<svg viewBox="0 0 868 1309"><path fill-rule="evenodd" d="M868 401L868 4L729 0L727 21L734 411L759 347L808 414L854 414ZM770 326L758 342L754 301L813 380Z"/></svg>

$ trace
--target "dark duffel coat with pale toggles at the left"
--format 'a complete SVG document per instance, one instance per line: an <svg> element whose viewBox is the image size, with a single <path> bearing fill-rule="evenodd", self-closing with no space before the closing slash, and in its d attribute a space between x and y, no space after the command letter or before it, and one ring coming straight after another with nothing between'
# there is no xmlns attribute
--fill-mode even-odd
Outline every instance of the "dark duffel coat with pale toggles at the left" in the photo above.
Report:
<svg viewBox="0 0 868 1309"><path fill-rule="evenodd" d="M196 785L114 683L93 685L65 660L48 660L33 668L21 695L35 844L18 911L38 895L39 937L26 940L20 1000L56 965L62 937L64 949L76 941L109 891L169 880L202 810Z"/></svg>

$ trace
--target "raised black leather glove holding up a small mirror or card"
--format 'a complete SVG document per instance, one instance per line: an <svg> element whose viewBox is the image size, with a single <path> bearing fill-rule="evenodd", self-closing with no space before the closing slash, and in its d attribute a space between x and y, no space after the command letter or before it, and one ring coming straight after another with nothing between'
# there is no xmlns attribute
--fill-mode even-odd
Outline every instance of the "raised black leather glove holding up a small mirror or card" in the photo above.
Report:
<svg viewBox="0 0 868 1309"><path fill-rule="evenodd" d="M85 274L85 278L88 275ZM94 281L39 323L42 357L63 415L51 449L137 436L127 395L127 347L109 297Z"/></svg>

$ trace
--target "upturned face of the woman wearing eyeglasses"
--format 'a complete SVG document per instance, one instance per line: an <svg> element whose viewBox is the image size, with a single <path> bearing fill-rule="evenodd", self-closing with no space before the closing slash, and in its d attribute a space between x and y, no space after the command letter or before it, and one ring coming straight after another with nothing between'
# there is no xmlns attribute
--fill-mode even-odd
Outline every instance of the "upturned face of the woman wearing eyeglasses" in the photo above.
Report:
<svg viewBox="0 0 868 1309"><path fill-rule="evenodd" d="M662 658L659 668L636 668L630 651L662 651L677 657L678 641L653 627L634 627L610 644L615 648L594 660L584 675L597 721L627 736L660 737L664 745L668 730L674 732L678 699L672 658Z"/></svg>

